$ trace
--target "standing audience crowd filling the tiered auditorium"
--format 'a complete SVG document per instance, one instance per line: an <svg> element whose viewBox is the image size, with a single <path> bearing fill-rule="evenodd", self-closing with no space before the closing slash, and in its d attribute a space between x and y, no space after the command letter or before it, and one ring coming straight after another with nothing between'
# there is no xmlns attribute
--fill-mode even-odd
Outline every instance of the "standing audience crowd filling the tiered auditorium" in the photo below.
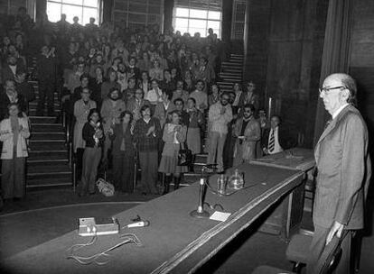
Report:
<svg viewBox="0 0 374 274"><path fill-rule="evenodd" d="M65 14L58 23L46 15L33 23L23 8L5 27L0 51L5 198L24 195L24 173L17 170L24 169L28 103L35 98L28 78L39 83L37 115L55 115L56 98L67 114L79 196L95 193L98 167L109 162L117 190L133 191L138 161L140 191L156 194L157 182L163 181L167 193L172 180L178 188L182 174L193 171L193 164L178 165L181 148L192 151L192 163L207 152L208 164L217 163L223 172L289 146L280 141L280 118L267 123L259 109L253 82L220 92L221 43L211 29L201 38L162 33L156 24L131 31L111 23L98 26L91 18L82 26L78 17L68 23ZM32 56L36 70L30 74ZM17 168L9 168L13 165Z"/></svg>

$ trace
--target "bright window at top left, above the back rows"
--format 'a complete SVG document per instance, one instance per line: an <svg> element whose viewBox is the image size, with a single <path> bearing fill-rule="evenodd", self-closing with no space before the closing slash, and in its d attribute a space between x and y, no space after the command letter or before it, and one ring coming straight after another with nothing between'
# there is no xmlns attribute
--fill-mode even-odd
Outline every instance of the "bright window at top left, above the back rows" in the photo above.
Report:
<svg viewBox="0 0 374 274"><path fill-rule="evenodd" d="M89 18L100 18L100 0L47 0L47 14L51 22L61 19L61 14L66 14L66 21L73 23L74 16L79 17L79 23L89 23Z"/></svg>

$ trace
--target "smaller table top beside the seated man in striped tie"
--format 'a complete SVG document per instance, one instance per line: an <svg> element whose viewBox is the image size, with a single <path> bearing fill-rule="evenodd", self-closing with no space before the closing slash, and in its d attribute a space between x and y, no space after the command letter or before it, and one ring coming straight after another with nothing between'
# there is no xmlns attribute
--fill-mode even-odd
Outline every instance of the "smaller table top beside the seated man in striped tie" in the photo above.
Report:
<svg viewBox="0 0 374 274"><path fill-rule="evenodd" d="M294 148L251 160L250 163L267 167L307 171L315 166L314 151Z"/></svg>

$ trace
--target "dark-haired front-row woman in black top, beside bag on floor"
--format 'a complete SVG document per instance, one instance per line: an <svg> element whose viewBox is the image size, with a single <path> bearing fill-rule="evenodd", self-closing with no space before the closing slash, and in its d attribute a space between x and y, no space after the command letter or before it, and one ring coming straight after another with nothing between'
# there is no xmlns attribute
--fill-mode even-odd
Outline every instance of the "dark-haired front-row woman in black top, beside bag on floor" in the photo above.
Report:
<svg viewBox="0 0 374 274"><path fill-rule="evenodd" d="M84 124L82 131L86 148L83 153L83 170L79 183L79 196L95 194L98 164L101 160L101 148L105 139L100 113L97 108L89 111L88 120Z"/></svg>

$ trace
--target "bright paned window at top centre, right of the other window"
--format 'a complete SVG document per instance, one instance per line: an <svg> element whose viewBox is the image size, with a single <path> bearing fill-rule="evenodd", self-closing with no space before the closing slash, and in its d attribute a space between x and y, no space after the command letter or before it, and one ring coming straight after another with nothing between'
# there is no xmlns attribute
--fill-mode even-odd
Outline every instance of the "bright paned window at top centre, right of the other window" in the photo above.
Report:
<svg viewBox="0 0 374 274"><path fill-rule="evenodd" d="M173 27L182 34L200 32L201 37L206 37L211 28L220 38L221 16L221 0L175 0Z"/></svg>

